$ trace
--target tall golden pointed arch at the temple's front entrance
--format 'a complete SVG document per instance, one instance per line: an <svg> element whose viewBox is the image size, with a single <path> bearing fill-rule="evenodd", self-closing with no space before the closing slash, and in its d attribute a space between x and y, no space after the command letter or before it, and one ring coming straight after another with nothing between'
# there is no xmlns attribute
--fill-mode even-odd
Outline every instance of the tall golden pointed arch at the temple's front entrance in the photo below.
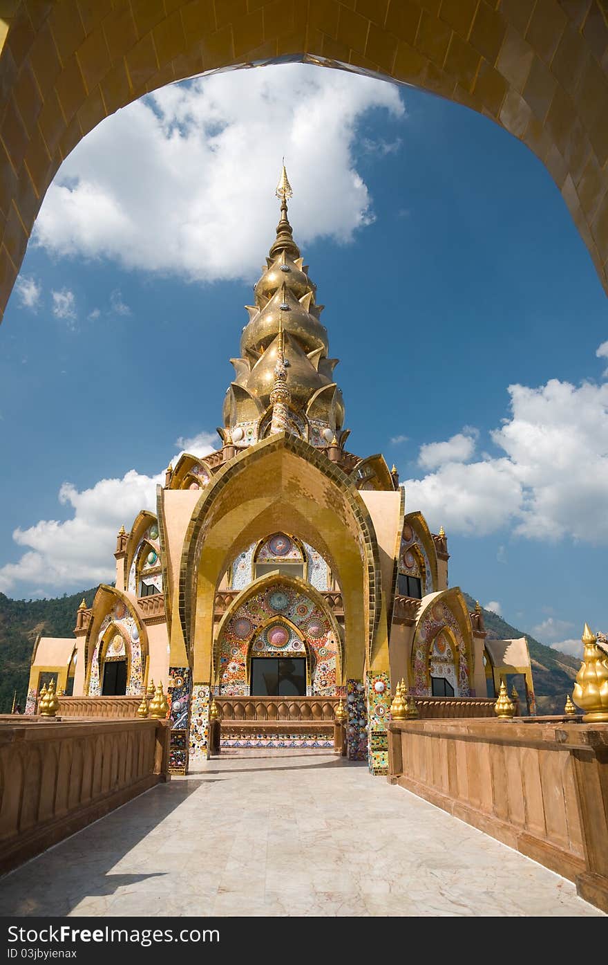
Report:
<svg viewBox="0 0 608 965"><path fill-rule="evenodd" d="M357 488L327 455L280 432L226 463L201 494L188 525L179 617L186 652L191 660L198 653L196 678L208 678L213 601L226 566L252 542L278 529L316 546L337 576L344 600L347 673L360 679L376 658L387 665L371 516Z"/></svg>

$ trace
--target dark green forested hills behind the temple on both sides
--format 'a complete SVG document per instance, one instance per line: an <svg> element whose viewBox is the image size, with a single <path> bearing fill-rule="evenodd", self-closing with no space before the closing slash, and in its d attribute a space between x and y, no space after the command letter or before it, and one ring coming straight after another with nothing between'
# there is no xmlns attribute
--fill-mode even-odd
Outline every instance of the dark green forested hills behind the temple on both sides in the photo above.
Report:
<svg viewBox="0 0 608 965"><path fill-rule="evenodd" d="M87 605L93 604L96 588L71 596L54 599L13 600L0 593L0 713L8 713L16 701L25 706L30 676L30 659L37 636L69 637L76 621L76 610L83 596ZM470 610L475 600L464 593ZM544 647L529 633L483 610L486 629L490 638L510 640L525 637L530 648L532 670L539 713L562 713L566 695L572 692L572 684L580 668L580 660Z"/></svg>

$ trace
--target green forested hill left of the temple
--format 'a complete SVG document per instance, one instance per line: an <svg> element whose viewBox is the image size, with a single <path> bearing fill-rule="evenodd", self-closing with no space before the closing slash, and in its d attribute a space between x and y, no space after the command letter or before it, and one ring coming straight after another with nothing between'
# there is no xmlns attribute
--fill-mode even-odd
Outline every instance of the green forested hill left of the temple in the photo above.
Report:
<svg viewBox="0 0 608 965"><path fill-rule="evenodd" d="M0 593L0 713L10 713L13 694L25 707L32 650L39 633L44 637L71 637L76 610L83 596L93 604L96 592L42 600L12 600Z"/></svg>

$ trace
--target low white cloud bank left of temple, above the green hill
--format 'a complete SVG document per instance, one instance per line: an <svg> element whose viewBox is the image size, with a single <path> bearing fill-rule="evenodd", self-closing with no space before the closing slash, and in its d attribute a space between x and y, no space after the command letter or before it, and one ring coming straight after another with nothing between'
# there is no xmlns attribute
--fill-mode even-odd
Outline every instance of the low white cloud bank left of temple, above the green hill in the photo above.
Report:
<svg viewBox="0 0 608 965"><path fill-rule="evenodd" d="M199 432L177 445L193 455L213 451L210 432ZM217 439L217 436L216 436ZM174 457L173 457L174 461ZM71 483L59 490L59 502L72 512L69 519L41 519L29 529L16 529L13 539L26 552L16 563L0 567L0 593L14 587L44 587L64 591L113 581L113 553L119 527L128 530L140 510L156 511L156 484L165 482L164 471L146 476L131 469L121 479L99 480L79 491Z"/></svg>

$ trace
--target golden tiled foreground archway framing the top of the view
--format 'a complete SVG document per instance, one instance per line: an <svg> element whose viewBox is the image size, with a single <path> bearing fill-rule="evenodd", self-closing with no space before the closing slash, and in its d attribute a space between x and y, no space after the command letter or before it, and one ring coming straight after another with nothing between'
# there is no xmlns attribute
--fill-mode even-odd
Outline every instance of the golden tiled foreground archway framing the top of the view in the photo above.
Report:
<svg viewBox="0 0 608 965"><path fill-rule="evenodd" d="M285 0L278 15L274 0L11 4L0 19L0 313L46 189L96 124L173 81L285 62L409 84L504 127L549 171L608 290L603 0L353 6Z"/></svg>

